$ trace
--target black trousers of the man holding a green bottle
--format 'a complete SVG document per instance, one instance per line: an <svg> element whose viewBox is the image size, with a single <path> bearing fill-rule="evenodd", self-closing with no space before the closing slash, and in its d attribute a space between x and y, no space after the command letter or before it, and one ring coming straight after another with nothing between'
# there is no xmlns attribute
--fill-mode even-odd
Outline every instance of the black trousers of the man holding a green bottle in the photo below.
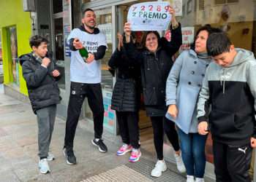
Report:
<svg viewBox="0 0 256 182"><path fill-rule="evenodd" d="M67 149L73 148L75 130L86 97L94 117L94 138L102 138L104 106L101 85L71 82L64 144Z"/></svg>

